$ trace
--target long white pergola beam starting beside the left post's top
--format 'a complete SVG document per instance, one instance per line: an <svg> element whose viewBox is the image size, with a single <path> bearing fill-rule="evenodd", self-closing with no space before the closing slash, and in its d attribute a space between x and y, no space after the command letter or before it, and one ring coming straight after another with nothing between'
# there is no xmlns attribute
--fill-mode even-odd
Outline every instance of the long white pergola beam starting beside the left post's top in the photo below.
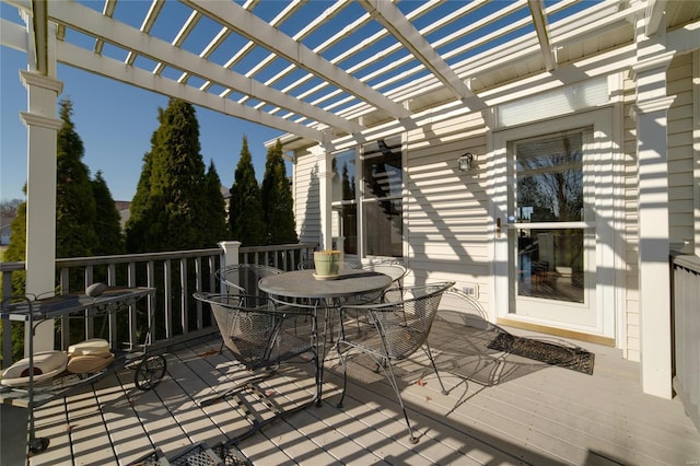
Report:
<svg viewBox="0 0 700 466"><path fill-rule="evenodd" d="M114 43L127 50L133 50L154 61L186 70L205 80L213 81L223 88L232 88L255 98L305 115L313 120L320 121L330 127L339 128L348 132L357 132L362 129L362 127L354 121L349 121L329 112L324 112L235 71L214 65L195 54L174 47L165 40L161 40L124 23L103 16L90 8L82 7L74 2L58 1L51 3L49 14L51 20L58 23Z"/></svg>

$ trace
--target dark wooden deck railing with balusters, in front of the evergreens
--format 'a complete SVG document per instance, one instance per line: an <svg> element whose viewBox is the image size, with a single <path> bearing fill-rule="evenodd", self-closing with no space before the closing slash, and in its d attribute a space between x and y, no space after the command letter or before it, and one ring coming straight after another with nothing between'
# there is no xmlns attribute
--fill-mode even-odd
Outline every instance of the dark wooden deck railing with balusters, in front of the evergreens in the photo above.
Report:
<svg viewBox="0 0 700 466"><path fill-rule="evenodd" d="M234 247L230 247L231 245ZM208 310L192 300L191 295L195 291L220 289L214 278L215 270L224 264L234 263L266 264L293 270L300 260L310 257L317 248L313 243L241 248L236 243L222 243L221 246L210 249L57 259L59 294L83 291L97 281L110 287L156 289L145 302L137 303L128 312L102 317L102 321L86 318L74 324L75 319L62 318L57 346L67 348L74 342L71 341L71 333L77 331L75 325L80 327L77 333L83 338L98 336L131 348L145 342L148 328L152 329L148 345L156 348L213 333L215 326ZM21 270L24 270L24 263L0 264L2 296L12 294L12 275ZM11 326L5 325L7 323L2 323L3 368L12 361Z"/></svg>

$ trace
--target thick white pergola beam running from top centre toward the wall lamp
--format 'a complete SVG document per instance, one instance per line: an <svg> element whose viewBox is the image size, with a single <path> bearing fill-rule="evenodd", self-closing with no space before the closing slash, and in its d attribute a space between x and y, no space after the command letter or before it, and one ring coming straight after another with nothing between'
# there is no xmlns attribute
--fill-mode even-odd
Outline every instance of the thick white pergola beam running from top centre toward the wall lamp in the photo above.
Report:
<svg viewBox="0 0 700 466"><path fill-rule="evenodd" d="M474 94L465 85L450 65L435 51L418 30L394 5L385 0L360 0L360 4L370 12L404 47L430 70L459 100Z"/></svg>

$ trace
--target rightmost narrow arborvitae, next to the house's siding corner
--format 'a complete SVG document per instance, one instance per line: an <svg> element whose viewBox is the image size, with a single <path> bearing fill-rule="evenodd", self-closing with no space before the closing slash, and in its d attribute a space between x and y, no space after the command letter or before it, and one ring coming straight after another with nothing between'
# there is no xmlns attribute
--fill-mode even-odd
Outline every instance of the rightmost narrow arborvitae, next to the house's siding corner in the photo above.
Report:
<svg viewBox="0 0 700 466"><path fill-rule="evenodd" d="M296 243L292 189L287 178L282 143L279 140L267 151L261 198L268 244Z"/></svg>

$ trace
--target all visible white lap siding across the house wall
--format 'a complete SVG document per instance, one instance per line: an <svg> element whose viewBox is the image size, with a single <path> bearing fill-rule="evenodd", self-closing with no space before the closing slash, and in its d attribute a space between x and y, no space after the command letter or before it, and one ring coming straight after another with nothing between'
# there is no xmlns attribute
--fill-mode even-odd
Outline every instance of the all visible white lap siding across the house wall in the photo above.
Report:
<svg viewBox="0 0 700 466"><path fill-rule="evenodd" d="M697 54L676 57L668 69L668 95L676 100L668 112L668 166L672 241L693 238L693 206L697 189L692 167L692 128L697 125L698 96L692 77L698 66ZM697 58L695 58L697 59ZM696 77L697 79L697 77ZM640 361L640 315L638 271L638 188L637 124L632 106L637 83L623 80L623 196L625 213L621 234L625 272L621 287L623 310L618 324L621 338L617 346L625 357ZM695 91L697 92L697 91ZM427 123L404 133L406 142L405 240L407 265L412 270L407 284L425 280L454 280L460 289L478 290L479 301L493 312L491 289L493 225L491 206L486 196L488 129L480 113L436 114ZM450 112L450 110L447 110ZM619 114L618 114L619 115ZM394 124L375 128L372 139L396 136ZM336 141L336 143L342 141ZM470 173L457 167L459 155L471 152L476 166ZM294 194L299 231L302 241L319 241L318 180L316 158L298 152ZM692 251L690 244L686 251Z"/></svg>

